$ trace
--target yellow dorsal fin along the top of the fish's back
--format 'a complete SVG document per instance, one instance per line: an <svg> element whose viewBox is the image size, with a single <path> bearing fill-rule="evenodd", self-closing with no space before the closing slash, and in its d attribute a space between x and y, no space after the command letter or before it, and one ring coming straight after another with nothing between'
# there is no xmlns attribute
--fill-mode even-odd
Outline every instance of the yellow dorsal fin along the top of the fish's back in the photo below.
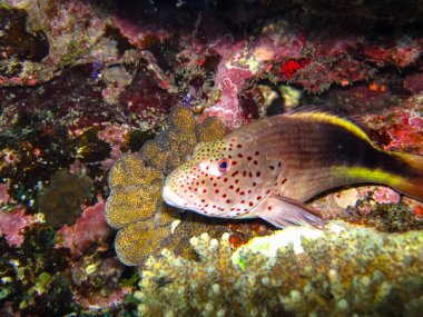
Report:
<svg viewBox="0 0 423 317"><path fill-rule="evenodd" d="M367 135L360 127L360 120L352 120L351 118L340 117L338 115L335 115L329 110L322 109L319 106L303 106L292 111L288 111L283 116L309 120L313 122L335 125L347 130L357 138L372 143Z"/></svg>

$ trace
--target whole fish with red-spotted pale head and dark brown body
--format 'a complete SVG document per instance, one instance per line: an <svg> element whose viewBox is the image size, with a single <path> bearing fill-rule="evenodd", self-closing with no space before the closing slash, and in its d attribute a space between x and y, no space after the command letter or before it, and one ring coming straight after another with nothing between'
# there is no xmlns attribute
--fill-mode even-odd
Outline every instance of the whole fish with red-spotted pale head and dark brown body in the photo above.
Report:
<svg viewBox="0 0 423 317"><path fill-rule="evenodd" d="M163 198L209 217L324 229L321 212L306 202L357 184L385 185L423 200L423 156L384 151L354 121L305 108L197 145L167 176Z"/></svg>

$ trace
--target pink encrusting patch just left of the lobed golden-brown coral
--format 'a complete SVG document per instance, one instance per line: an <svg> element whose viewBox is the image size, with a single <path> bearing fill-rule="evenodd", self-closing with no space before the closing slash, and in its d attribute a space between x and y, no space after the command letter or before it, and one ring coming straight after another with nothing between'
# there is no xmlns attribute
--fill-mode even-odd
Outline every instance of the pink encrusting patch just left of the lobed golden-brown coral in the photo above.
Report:
<svg viewBox="0 0 423 317"><path fill-rule="evenodd" d="M83 254L94 242L107 238L110 228L104 215L105 200L101 197L98 200L95 206L83 209L75 225L65 225L57 231L58 247L70 248L72 254Z"/></svg>

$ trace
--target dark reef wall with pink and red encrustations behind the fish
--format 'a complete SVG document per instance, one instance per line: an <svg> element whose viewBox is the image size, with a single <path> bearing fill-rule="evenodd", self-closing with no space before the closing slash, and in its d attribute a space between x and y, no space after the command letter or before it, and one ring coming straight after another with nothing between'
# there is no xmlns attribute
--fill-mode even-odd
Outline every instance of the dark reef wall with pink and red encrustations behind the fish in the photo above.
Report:
<svg viewBox="0 0 423 317"><path fill-rule="evenodd" d="M356 118L383 149L423 155L422 21L423 3L404 0L0 1L0 315L138 314L139 275L104 210L110 167L141 148L154 166L154 142L181 157L312 103ZM175 106L208 128L168 123ZM422 228L423 205L385 187L311 204L384 232ZM185 220L193 235L230 232L232 247L273 231ZM185 238L167 247L184 254Z"/></svg>

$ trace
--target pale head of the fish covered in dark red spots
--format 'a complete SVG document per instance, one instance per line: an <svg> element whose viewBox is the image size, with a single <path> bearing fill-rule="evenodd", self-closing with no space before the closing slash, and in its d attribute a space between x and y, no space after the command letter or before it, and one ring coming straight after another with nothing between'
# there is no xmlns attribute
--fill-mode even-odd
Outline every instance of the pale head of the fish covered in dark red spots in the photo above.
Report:
<svg viewBox="0 0 423 317"><path fill-rule="evenodd" d="M270 194L279 168L281 162L270 162L240 138L205 142L166 178L163 197L203 215L247 218Z"/></svg>

